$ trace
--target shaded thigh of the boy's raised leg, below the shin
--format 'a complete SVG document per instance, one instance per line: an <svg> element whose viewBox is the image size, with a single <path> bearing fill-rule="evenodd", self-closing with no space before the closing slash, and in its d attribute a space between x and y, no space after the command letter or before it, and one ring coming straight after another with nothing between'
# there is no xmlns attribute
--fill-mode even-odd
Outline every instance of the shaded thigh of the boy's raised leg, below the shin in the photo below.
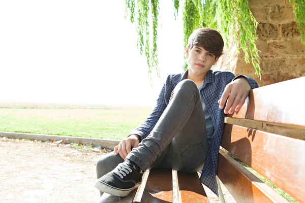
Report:
<svg viewBox="0 0 305 203"><path fill-rule="evenodd" d="M199 107L200 106L200 107ZM181 172L200 171L208 153L204 113L201 104L151 168L171 168Z"/></svg>

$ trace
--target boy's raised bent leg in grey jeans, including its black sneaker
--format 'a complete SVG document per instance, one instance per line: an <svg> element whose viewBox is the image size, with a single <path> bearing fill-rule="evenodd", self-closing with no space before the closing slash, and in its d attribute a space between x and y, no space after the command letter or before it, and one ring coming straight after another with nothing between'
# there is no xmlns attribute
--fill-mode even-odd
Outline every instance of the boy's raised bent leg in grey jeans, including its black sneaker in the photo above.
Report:
<svg viewBox="0 0 305 203"><path fill-rule="evenodd" d="M199 116L197 116L197 113ZM190 119L192 116L195 118ZM186 125L189 120L190 122L193 120L198 126ZM186 131L188 133L182 130L184 127L188 128ZM179 134L180 131L181 133ZM194 133L189 134L191 131ZM179 136L175 138L177 134ZM170 143L172 144L169 145ZM193 145L196 145L196 149L192 149ZM199 91L193 81L181 81L173 90L167 108L149 136L139 144L139 147L134 148L128 154L127 161L119 164L115 170L98 179L96 187L116 196L126 196L140 185L141 172L145 171L151 163L155 162L167 146L169 146L168 149L172 149L169 152L176 149L180 149L180 151L183 149L182 152L201 150L200 154L196 154L196 157L200 157L200 160L196 159L196 163L193 164L197 166L202 164L205 159L205 153L201 152L207 151L207 145L205 120ZM190 148L190 150L185 150L185 148ZM175 156L172 153L168 155ZM187 152L186 155L182 153L179 156L183 160L187 160L191 155ZM170 161L171 159L169 158L168 160ZM154 163L153 165L156 164ZM182 168L185 168L187 164L181 164L184 165ZM193 170L193 168L190 168L190 170Z"/></svg>

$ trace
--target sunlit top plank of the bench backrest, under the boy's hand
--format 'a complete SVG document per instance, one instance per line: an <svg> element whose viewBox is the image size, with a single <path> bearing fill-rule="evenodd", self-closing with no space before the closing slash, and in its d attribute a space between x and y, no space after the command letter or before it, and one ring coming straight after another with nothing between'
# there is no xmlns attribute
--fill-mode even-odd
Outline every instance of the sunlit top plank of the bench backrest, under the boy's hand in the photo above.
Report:
<svg viewBox="0 0 305 203"><path fill-rule="evenodd" d="M250 91L249 104L228 117L305 126L305 77L288 80Z"/></svg>

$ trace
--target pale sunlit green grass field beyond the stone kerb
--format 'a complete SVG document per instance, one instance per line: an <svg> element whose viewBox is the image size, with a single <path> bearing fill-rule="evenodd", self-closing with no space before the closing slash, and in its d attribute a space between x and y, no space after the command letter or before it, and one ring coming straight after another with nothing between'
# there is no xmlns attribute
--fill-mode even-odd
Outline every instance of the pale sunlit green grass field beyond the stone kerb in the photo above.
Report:
<svg viewBox="0 0 305 203"><path fill-rule="evenodd" d="M0 109L0 131L121 140L152 108Z"/></svg>

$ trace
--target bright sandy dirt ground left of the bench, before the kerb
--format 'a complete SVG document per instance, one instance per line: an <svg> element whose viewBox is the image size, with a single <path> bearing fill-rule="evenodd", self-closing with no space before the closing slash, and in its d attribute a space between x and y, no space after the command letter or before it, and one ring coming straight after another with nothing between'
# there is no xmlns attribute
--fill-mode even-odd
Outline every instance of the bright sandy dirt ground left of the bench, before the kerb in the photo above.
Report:
<svg viewBox="0 0 305 203"><path fill-rule="evenodd" d="M0 138L0 202L96 202L102 153Z"/></svg>

